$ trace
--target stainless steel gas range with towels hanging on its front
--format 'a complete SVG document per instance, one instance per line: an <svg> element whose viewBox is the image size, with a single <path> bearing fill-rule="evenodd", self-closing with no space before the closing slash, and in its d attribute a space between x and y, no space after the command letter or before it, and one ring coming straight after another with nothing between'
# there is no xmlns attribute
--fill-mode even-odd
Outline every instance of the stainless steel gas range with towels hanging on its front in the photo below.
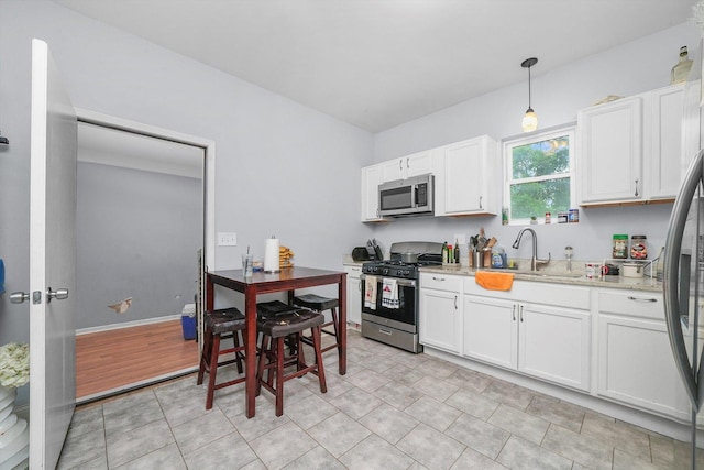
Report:
<svg viewBox="0 0 704 470"><path fill-rule="evenodd" d="M418 269L442 264L442 243L393 243L388 260L362 265L362 336L410 352L418 341ZM408 263L402 259L417 259Z"/></svg>

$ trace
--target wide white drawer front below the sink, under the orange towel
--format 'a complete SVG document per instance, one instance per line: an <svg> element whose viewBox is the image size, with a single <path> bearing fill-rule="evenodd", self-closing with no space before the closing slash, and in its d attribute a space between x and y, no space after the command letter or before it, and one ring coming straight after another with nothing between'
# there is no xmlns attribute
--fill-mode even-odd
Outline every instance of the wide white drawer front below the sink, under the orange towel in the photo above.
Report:
<svg viewBox="0 0 704 470"><path fill-rule="evenodd" d="M487 291L476 284L473 276L464 278L464 294L505 298L512 302L553 305L580 310L591 308L588 287L550 284L530 281L514 281L510 291Z"/></svg>

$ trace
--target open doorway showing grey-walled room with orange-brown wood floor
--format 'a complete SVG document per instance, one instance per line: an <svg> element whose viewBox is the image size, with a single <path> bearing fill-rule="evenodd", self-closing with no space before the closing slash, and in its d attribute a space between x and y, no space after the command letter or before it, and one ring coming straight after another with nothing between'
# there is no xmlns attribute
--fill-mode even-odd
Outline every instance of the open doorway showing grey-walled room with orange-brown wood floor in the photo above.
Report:
<svg viewBox="0 0 704 470"><path fill-rule="evenodd" d="M85 189L89 200L82 203L84 212L95 227L81 222L80 216L77 220L77 226L88 227L77 236L79 270L82 266L77 292L84 300L77 318L77 403L86 403L196 370L199 348L195 341L184 340L180 311L184 305L198 302L199 297L194 298L199 291L197 280L205 266L212 265L215 145L200 138L77 111L79 189L85 186L84 178L109 195L101 199L90 193L92 189ZM81 200L79 194L79 209ZM120 205L128 207L118 207L117 212L111 207ZM108 216L112 214L108 209L117 215ZM198 220L187 220L194 214ZM152 222L156 240L145 239ZM184 239L182 244L177 239ZM88 252L82 262L81 245ZM119 252L120 245L124 253ZM198 261L198 248L202 248L202 262ZM109 309L109 304L114 308ZM94 348L95 353L81 350L84 347ZM184 367L184 357L189 354L190 365ZM102 390L96 390L94 380L88 389L82 387L89 393L81 393L86 379L85 368L79 376L81 364L86 367L89 358L91 368L100 367L99 357L108 371L113 371L111 379L118 380L98 380ZM162 363L146 364L150 357ZM127 365L120 365L120 360ZM136 374L130 372L130 363ZM94 379L101 374L98 369L92 371ZM148 376L145 371L151 371Z"/></svg>

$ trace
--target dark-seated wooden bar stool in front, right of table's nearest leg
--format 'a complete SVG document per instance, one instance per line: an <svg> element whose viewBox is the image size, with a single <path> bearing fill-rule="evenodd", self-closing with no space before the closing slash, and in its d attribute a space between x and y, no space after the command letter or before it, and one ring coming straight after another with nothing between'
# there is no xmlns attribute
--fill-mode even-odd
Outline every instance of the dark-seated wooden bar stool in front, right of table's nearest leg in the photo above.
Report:
<svg viewBox="0 0 704 470"><path fill-rule="evenodd" d="M324 321L322 314L306 308L299 308L288 314L279 314L270 317L260 317L256 320L257 330L262 334L262 347L260 362L256 371L258 396L262 386L276 396L276 416L284 414L284 382L305 375L308 372L318 375L320 392L328 392L326 384L326 373L322 365L322 353L320 351L320 325ZM316 352L316 362L306 364L302 356L302 331L310 329L312 335L312 347ZM289 336L298 338L297 348L286 356L284 338ZM284 369L296 365L296 371L284 374ZM266 380L264 380L266 371Z"/></svg>

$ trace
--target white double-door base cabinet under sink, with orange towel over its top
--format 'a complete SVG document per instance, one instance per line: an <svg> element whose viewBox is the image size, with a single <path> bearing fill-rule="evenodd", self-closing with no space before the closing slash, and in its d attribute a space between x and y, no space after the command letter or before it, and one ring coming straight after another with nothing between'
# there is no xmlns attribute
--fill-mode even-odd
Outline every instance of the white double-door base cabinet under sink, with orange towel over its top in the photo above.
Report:
<svg viewBox="0 0 704 470"><path fill-rule="evenodd" d="M516 281L487 291L466 277L463 293L464 356L590 390L590 288Z"/></svg>

